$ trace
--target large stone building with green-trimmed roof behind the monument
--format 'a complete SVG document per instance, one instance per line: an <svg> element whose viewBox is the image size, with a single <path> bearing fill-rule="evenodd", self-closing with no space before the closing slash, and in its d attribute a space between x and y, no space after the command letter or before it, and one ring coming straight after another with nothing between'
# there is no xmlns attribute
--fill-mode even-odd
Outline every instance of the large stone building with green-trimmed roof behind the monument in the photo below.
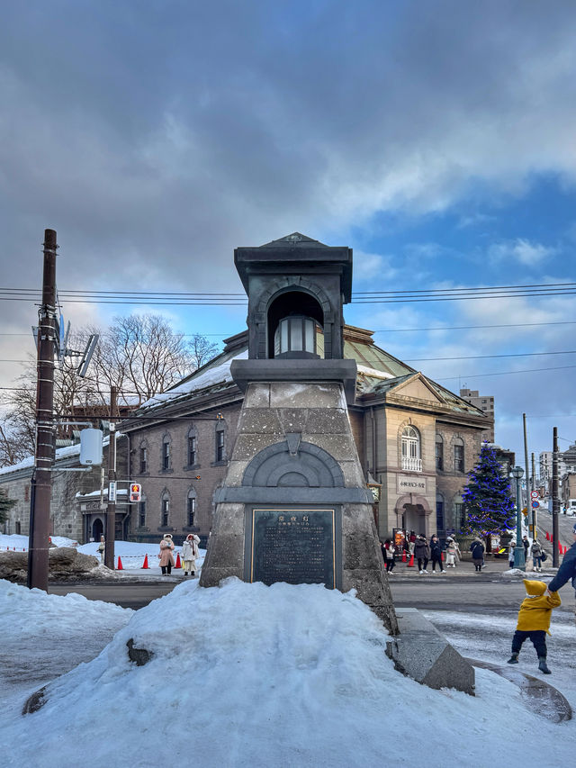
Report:
<svg viewBox="0 0 576 768"><path fill-rule="evenodd" d="M298 233L261 249L274 252L287 243L295 258L302 253L302 279L291 287L279 278L277 293L267 298L268 308L278 305L279 318L290 314L291 291L305 292L307 281L313 280L305 273L306 249L318 253L326 248L329 258L329 247ZM255 324L259 318L256 312ZM324 349L328 318L328 313L324 318L312 313L308 325L302 317L290 318L289 328L279 321L275 338L270 333L267 339L270 357L281 343L307 348L311 339L306 334L312 332L315 355L331 357ZM248 334L256 332L262 333L253 328L226 339L219 356L122 423L129 437L130 477L143 489L142 501L130 515L130 538L157 540L168 531L176 541L191 531L202 542L208 538L244 396L230 375L230 364L247 358ZM491 428L491 419L377 347L372 337L370 330L344 327L343 357L357 365L356 397L348 414L366 483L374 486L377 497L378 533L386 538L394 528L428 536L457 531L463 522L465 474L477 460L482 431Z"/></svg>

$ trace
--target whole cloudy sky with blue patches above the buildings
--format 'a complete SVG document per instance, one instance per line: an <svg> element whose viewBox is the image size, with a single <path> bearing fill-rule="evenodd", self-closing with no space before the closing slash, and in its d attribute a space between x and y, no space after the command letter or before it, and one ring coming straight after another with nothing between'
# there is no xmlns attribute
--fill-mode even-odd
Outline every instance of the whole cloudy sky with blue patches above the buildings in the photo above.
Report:
<svg viewBox="0 0 576 768"><path fill-rule="evenodd" d="M47 227L62 289L239 291L233 248L293 231L354 248L355 291L571 282L575 32L576 6L532 0L9 5L3 284L40 285ZM407 361L457 357L413 365L494 395L497 441L520 457L523 412L536 453L554 425L561 447L576 438L573 304L352 304L346 319ZM131 309L65 307L76 326ZM5 334L35 308L0 311L1 357L22 357ZM245 321L161 311L213 339ZM461 328L497 324L514 327ZM2 365L5 384L19 364Z"/></svg>

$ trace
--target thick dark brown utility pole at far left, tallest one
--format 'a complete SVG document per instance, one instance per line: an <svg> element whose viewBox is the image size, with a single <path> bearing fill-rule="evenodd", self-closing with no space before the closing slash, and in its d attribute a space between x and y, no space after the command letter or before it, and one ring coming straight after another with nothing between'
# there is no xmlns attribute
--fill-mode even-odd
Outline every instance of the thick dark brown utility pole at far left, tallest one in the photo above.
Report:
<svg viewBox="0 0 576 768"><path fill-rule="evenodd" d="M48 592L48 540L54 462L54 353L56 351L56 231L44 230L42 303L38 311L36 450L31 482L29 589Z"/></svg>

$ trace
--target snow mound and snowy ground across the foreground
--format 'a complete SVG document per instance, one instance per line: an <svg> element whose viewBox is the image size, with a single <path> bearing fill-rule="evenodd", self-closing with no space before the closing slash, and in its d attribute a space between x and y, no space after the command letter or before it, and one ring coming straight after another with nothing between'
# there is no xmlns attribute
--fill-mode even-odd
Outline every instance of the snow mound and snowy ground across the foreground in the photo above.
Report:
<svg viewBox="0 0 576 768"><path fill-rule="evenodd" d="M496 623L489 619L479 628L484 657ZM477 695L470 697L432 691L395 672L384 654L385 629L353 592L237 579L202 589L194 580L133 612L0 582L0 621L0 754L7 767L439 761L525 768L573 761L576 721L554 725L538 717L511 682L477 670ZM470 618L448 621L458 622L468 627ZM103 635L114 629L108 642ZM129 661L130 637L154 654L145 666ZM46 705L22 716L23 701L46 675L32 685L31 676L18 682L19 670L46 645L69 669L68 648L78 642L92 660L49 682ZM573 649L568 625L563 642ZM478 655L482 648L459 650ZM556 665L550 682L562 676ZM531 762L533 741L538 756Z"/></svg>

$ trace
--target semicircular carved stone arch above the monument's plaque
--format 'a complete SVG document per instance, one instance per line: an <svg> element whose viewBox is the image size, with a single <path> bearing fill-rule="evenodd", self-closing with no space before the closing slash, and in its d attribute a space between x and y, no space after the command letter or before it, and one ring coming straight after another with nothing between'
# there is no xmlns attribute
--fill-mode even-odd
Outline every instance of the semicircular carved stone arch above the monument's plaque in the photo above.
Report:
<svg viewBox="0 0 576 768"><path fill-rule="evenodd" d="M260 488L344 488L344 474L333 456L312 443L301 442L291 455L288 442L261 450L247 465L242 485Z"/></svg>

